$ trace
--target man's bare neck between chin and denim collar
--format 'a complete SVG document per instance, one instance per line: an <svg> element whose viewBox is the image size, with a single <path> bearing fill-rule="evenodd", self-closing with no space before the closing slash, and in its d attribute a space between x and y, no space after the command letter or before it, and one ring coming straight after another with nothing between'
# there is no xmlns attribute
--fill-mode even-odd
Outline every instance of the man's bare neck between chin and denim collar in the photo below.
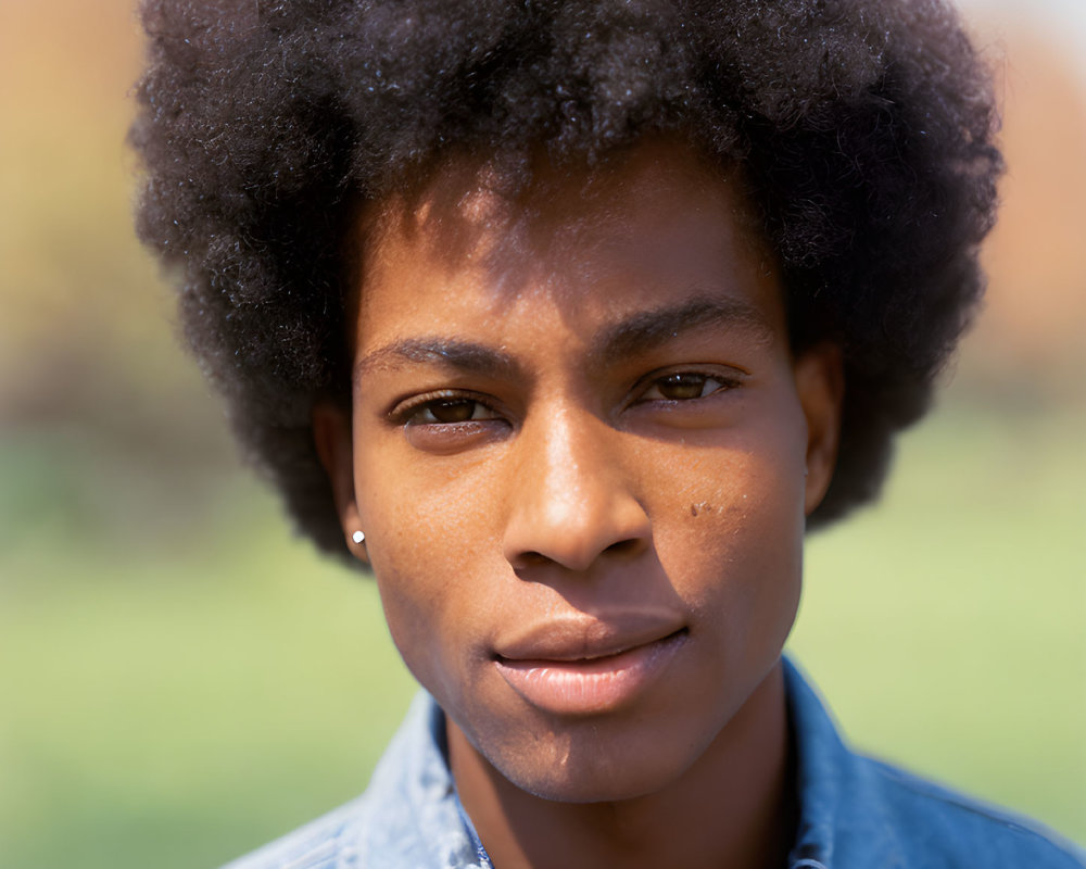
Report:
<svg viewBox="0 0 1086 869"><path fill-rule="evenodd" d="M447 725L457 791L497 869L769 869L785 862L795 801L780 664L690 769L632 799L533 796Z"/></svg>

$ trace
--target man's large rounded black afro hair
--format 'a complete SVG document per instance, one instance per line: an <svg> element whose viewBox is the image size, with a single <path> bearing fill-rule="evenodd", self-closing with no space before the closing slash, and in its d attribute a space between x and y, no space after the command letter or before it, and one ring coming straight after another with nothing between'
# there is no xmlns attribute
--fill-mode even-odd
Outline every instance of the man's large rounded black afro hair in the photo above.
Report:
<svg viewBox="0 0 1086 869"><path fill-rule="evenodd" d="M311 413L346 401L358 203L469 149L594 165L653 134L737 168L791 341L841 345L824 524L872 499L983 289L989 79L940 0L144 0L141 238L247 455L345 553ZM518 169L508 168L516 174ZM365 292L365 288L362 289Z"/></svg>

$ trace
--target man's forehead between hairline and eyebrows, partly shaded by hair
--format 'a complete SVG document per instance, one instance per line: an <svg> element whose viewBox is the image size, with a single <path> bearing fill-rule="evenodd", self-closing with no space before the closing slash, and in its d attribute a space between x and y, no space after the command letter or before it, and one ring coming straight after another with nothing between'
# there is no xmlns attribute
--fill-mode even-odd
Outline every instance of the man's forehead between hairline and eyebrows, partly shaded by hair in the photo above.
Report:
<svg viewBox="0 0 1086 869"><path fill-rule="evenodd" d="M733 297L783 330L772 256L753 227L738 180L671 141L592 169L538 168L515 193L489 164L452 160L364 215L358 338L457 312L482 323L541 295L570 315Z"/></svg>

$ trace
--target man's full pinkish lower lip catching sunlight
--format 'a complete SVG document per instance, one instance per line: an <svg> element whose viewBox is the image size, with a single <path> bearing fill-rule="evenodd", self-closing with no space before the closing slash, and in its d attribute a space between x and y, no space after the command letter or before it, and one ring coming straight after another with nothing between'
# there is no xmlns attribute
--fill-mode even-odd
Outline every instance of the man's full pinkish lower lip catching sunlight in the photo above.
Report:
<svg viewBox="0 0 1086 869"><path fill-rule="evenodd" d="M495 665L513 690L533 706L557 715L588 715L619 707L644 690L685 640L681 631L603 658L498 658Z"/></svg>

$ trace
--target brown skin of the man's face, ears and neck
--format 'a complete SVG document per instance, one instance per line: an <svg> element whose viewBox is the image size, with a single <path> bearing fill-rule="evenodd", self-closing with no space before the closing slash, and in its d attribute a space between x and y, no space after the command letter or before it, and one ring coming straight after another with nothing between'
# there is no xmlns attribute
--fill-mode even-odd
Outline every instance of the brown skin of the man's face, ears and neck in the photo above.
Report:
<svg viewBox="0 0 1086 869"><path fill-rule="evenodd" d="M514 201L452 161L362 222L353 406L316 410L317 448L502 869L774 866L792 841L780 654L842 375L791 352L747 216L647 141ZM553 638L648 648L647 675L558 664L591 690L541 700L510 660Z"/></svg>

